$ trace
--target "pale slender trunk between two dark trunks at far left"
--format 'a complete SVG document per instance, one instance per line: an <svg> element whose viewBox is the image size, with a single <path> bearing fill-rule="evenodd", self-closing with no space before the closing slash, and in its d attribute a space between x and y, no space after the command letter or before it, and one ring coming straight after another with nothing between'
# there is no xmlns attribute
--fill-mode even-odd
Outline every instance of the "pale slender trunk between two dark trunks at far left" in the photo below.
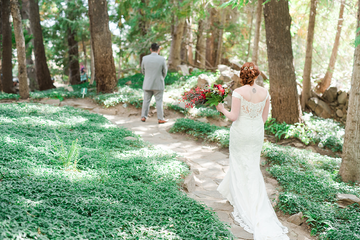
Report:
<svg viewBox="0 0 360 240"><path fill-rule="evenodd" d="M30 94L27 85L25 38L22 30L18 0L11 0L10 5L11 15L13 16L15 42L18 55L19 94L22 99L26 99L30 97Z"/></svg>

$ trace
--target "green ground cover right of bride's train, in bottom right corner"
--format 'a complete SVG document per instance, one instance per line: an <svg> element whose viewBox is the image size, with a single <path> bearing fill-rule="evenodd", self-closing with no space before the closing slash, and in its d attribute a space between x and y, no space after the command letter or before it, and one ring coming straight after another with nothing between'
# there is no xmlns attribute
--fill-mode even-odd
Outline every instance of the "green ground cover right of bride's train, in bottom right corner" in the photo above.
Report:
<svg viewBox="0 0 360 240"><path fill-rule="evenodd" d="M332 158L305 149L265 143L262 155L284 191L277 207L285 213L303 212L312 234L320 240L358 240L360 206L339 208L336 193L360 197L359 186L338 181L340 158Z"/></svg>

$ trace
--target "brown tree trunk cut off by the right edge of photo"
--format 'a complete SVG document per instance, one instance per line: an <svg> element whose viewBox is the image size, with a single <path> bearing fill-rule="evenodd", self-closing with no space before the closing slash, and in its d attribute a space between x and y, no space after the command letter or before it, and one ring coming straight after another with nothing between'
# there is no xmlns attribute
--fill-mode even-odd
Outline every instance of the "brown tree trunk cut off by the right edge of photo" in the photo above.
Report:
<svg viewBox="0 0 360 240"><path fill-rule="evenodd" d="M360 0L357 10L357 27L360 27ZM360 32L356 32L360 37ZM360 45L355 47L351 89L347 109L342 162L339 175L342 181L360 183Z"/></svg>

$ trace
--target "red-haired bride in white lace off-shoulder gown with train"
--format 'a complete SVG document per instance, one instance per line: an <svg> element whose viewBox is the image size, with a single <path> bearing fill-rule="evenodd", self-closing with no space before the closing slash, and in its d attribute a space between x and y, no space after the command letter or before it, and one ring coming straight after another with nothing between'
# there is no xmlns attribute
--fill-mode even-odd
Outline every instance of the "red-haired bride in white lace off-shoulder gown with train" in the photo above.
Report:
<svg viewBox="0 0 360 240"><path fill-rule="evenodd" d="M234 207L235 221L254 240L288 240L288 229L278 220L266 194L260 171L264 123L269 114L269 91L255 82L260 74L253 63L240 69L244 85L233 91L231 111L220 103L216 109L233 121L230 128L230 169L217 190Z"/></svg>

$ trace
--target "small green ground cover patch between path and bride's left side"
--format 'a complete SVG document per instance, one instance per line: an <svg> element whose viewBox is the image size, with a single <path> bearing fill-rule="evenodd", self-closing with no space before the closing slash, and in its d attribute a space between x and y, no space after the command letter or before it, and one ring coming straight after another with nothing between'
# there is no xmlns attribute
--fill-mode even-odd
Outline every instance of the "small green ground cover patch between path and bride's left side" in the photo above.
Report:
<svg viewBox="0 0 360 240"><path fill-rule="evenodd" d="M176 119L169 132L186 133L195 138L216 142L221 147L229 147L230 129L226 127L202 123L193 119L179 118Z"/></svg>

